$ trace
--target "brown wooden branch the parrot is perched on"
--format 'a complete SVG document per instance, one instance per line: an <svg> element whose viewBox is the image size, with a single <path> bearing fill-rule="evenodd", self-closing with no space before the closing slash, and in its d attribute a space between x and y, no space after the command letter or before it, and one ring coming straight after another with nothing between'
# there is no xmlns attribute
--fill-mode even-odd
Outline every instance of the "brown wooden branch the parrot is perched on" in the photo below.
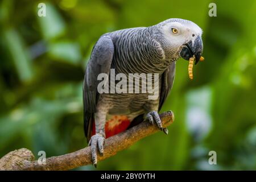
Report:
<svg viewBox="0 0 256 182"><path fill-rule="evenodd" d="M174 121L172 111L160 114L163 127L169 126ZM114 135L105 140L104 156L98 153L98 161L104 160L117 154L133 145L148 135L159 131L156 125L152 126L149 122L142 122L120 134ZM30 150L20 148L9 152L0 159L0 170L68 170L80 166L92 164L90 147L46 159L46 164L39 164Z"/></svg>

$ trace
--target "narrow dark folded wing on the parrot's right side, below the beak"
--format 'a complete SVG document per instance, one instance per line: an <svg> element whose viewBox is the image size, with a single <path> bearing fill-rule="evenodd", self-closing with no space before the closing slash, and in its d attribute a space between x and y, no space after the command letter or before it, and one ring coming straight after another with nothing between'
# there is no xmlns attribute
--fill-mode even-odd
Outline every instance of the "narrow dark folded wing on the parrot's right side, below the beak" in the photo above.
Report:
<svg viewBox="0 0 256 182"><path fill-rule="evenodd" d="M172 89L172 84L174 84L175 67L176 62L171 63L170 65L168 65L168 68L166 69L166 71L164 71L162 75L162 85L158 111L160 111L160 109L162 108L164 101L166 101L166 98Z"/></svg>

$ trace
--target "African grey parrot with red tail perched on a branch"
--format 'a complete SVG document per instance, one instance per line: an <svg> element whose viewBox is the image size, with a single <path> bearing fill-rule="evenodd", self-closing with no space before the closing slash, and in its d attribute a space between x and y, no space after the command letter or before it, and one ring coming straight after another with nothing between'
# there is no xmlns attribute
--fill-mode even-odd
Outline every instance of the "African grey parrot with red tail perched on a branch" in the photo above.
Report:
<svg viewBox="0 0 256 182"><path fill-rule="evenodd" d="M172 88L176 60L203 51L202 30L184 19L167 19L150 27L127 28L109 32L94 45L86 67L83 85L84 131L97 165L97 150L104 153L104 141L143 120L163 129L158 111ZM159 73L159 97L148 100L149 93L99 93L98 75L110 69L118 73ZM141 85L140 85L141 86Z"/></svg>

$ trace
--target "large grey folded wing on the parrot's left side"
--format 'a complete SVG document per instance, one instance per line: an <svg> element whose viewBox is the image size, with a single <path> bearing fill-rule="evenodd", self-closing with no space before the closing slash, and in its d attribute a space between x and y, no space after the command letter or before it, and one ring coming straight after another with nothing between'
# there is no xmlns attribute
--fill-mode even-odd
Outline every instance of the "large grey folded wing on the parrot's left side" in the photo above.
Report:
<svg viewBox="0 0 256 182"><path fill-rule="evenodd" d="M84 133L89 141L92 130L93 113L96 111L99 94L97 80L100 73L109 75L114 54L114 44L109 36L102 36L93 47L90 60L86 67L83 85L84 102Z"/></svg>

